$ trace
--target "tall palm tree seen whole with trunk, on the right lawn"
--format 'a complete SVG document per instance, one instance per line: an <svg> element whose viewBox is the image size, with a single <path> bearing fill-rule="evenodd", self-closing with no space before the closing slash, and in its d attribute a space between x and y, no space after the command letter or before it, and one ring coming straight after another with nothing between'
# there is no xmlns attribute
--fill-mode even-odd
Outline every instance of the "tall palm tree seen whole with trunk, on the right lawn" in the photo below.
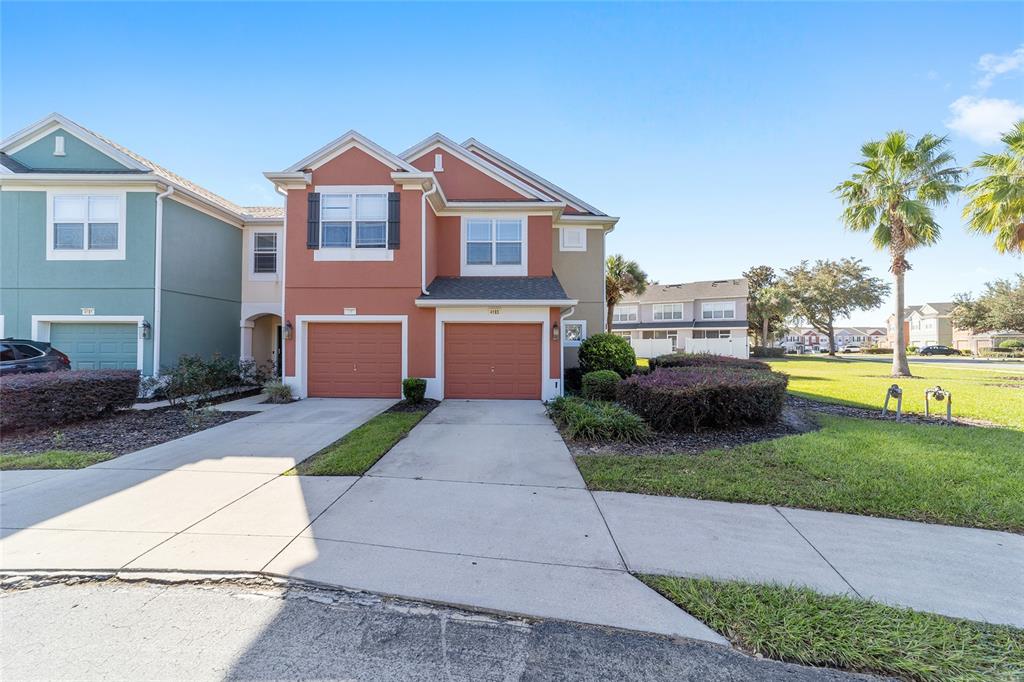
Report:
<svg viewBox="0 0 1024 682"><path fill-rule="evenodd" d="M939 240L941 228L932 208L949 202L964 175L964 169L953 165L947 143L947 138L931 133L911 143L902 130L891 132L861 146L863 158L854 164L857 172L834 189L846 205L847 228L870 231L874 247L889 250L889 269L896 281L894 377L910 376L903 338L903 276L910 269L906 254Z"/></svg>

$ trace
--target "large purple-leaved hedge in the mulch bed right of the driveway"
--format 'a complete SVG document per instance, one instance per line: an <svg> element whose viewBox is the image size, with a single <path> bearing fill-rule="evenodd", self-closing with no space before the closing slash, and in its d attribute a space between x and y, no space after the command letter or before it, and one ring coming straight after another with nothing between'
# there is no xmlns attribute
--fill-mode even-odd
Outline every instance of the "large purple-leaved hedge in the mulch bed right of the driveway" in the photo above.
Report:
<svg viewBox="0 0 1024 682"><path fill-rule="evenodd" d="M658 431L765 424L782 413L788 377L724 367L659 369L618 384L617 399Z"/></svg>

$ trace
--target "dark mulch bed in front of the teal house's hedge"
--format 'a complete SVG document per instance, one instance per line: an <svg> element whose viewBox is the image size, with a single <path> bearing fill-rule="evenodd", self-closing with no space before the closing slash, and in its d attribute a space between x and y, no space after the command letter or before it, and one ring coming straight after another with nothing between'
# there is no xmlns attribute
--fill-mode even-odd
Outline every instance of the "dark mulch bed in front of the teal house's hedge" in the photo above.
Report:
<svg viewBox="0 0 1024 682"><path fill-rule="evenodd" d="M210 410L204 413L202 425L193 428L179 408L124 410L89 422L3 433L0 434L0 451L30 454L68 450L124 455L254 414Z"/></svg>

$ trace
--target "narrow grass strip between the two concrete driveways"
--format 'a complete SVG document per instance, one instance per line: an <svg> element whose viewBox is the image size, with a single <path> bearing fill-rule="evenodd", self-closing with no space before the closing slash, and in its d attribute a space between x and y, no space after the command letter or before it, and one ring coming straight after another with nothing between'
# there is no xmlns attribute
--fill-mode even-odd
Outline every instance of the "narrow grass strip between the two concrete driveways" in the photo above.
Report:
<svg viewBox="0 0 1024 682"><path fill-rule="evenodd" d="M426 412L386 412L346 433L286 474L361 476L406 437Z"/></svg>

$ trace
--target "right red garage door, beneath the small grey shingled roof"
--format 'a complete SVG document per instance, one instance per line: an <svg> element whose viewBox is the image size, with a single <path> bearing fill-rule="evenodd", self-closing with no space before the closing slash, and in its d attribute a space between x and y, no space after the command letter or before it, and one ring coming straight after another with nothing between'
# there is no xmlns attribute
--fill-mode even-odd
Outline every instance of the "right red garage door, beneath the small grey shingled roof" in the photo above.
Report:
<svg viewBox="0 0 1024 682"><path fill-rule="evenodd" d="M444 325L444 397L541 397L541 325Z"/></svg>

